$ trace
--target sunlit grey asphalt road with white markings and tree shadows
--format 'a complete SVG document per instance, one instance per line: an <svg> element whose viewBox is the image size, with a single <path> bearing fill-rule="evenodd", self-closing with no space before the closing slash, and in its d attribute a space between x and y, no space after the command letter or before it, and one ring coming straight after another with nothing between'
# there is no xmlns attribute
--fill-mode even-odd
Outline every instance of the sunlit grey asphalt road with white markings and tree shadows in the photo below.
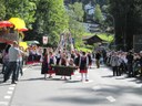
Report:
<svg viewBox="0 0 142 106"><path fill-rule="evenodd" d="M142 106L142 82L112 76L105 66L89 70L89 82L60 76L44 80L40 65L24 68L17 85L0 84L0 106Z"/></svg>

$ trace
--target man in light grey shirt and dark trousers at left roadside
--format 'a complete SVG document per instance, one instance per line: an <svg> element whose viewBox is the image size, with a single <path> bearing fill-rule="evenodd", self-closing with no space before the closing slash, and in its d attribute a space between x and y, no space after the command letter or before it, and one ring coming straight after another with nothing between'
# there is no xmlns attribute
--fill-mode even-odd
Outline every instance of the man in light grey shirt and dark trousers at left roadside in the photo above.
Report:
<svg viewBox="0 0 142 106"><path fill-rule="evenodd" d="M4 73L3 83L7 82L12 74L12 82L11 84L16 83L16 73L18 66L18 59L19 59L19 50L18 50L18 42L13 41L12 46L9 49L9 64Z"/></svg>

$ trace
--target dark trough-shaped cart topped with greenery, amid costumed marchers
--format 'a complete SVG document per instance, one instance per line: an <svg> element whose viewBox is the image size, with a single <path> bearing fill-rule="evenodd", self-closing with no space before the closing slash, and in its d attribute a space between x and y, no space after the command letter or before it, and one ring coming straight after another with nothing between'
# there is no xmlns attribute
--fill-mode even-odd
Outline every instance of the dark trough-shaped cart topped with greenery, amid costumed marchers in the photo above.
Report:
<svg viewBox="0 0 142 106"><path fill-rule="evenodd" d="M51 65L55 71L55 75L65 75L71 76L72 73L77 70L75 66L63 66L63 65Z"/></svg>

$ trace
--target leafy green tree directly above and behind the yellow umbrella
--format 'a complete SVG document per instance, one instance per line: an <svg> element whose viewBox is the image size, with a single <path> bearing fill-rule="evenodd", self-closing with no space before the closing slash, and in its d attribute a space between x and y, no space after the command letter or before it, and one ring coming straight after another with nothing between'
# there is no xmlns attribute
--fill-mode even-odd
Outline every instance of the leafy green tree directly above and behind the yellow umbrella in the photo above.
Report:
<svg viewBox="0 0 142 106"><path fill-rule="evenodd" d="M6 0L7 14L6 19L21 18L26 21L27 26L32 29L31 24L34 22L36 3L33 0Z"/></svg>

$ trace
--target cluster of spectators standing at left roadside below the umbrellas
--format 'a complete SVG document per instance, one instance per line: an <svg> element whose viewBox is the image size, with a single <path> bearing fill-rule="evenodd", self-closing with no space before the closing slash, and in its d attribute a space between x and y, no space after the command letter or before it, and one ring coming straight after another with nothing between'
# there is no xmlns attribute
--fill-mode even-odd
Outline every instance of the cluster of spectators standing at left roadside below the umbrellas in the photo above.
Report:
<svg viewBox="0 0 142 106"><path fill-rule="evenodd" d="M22 72L22 55L24 54L22 47L14 41L12 45L7 45L2 53L2 74L3 82L7 82L12 75L12 84L19 78L19 72Z"/></svg>

